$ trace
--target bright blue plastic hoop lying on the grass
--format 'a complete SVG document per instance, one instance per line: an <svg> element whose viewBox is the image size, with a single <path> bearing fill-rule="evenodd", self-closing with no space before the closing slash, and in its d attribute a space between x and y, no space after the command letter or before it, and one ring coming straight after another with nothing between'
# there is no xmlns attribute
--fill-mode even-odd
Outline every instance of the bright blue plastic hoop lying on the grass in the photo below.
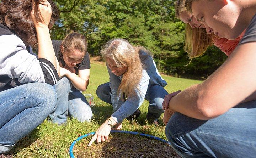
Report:
<svg viewBox="0 0 256 158"><path fill-rule="evenodd" d="M156 139L156 140L159 140L159 141L162 141L164 143L167 143L170 145L170 142L164 140L164 139L161 139L159 137L156 137L156 136L152 136L152 135L149 135L149 134L144 134L144 133L138 133L138 132L132 132L132 131L117 131L117 130L112 130L110 131L111 133L126 133L126 134L134 134L134 135L140 135L140 136L145 136L145 137L149 137L149 138L152 138L152 139ZM74 154L73 154L73 147L75 145L76 142L80 141L81 139L89 136L89 135L93 135L95 134L95 132L91 132L91 133L87 133L85 135L82 135L80 137L78 137L75 141L73 141L69 147L69 155L70 155L70 158L75 158Z"/></svg>

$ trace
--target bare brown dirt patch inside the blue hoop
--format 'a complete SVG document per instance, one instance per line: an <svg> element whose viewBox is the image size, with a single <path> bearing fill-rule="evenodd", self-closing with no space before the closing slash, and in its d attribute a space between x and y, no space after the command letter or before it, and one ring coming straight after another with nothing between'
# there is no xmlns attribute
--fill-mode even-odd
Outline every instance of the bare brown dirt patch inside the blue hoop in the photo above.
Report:
<svg viewBox="0 0 256 158"><path fill-rule="evenodd" d="M91 137L75 144L76 158L180 158L170 145L139 135L114 133L105 142L87 147Z"/></svg>

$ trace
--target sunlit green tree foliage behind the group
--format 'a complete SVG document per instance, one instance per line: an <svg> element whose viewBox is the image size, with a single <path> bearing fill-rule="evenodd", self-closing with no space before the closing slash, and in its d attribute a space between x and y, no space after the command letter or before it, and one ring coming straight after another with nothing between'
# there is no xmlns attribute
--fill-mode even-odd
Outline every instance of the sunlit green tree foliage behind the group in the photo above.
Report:
<svg viewBox="0 0 256 158"><path fill-rule="evenodd" d="M166 74L208 75L224 61L217 48L190 60L183 50L184 24L174 17L175 0L56 0L60 19L51 30L53 39L79 32L88 40L88 51L99 55L112 38L124 38L150 50L158 69Z"/></svg>

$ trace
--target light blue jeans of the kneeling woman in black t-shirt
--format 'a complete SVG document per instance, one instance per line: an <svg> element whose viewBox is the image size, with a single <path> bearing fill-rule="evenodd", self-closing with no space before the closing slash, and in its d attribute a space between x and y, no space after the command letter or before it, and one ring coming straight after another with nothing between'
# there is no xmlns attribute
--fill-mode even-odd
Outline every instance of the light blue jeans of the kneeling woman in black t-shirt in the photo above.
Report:
<svg viewBox="0 0 256 158"><path fill-rule="evenodd" d="M49 115L54 123L66 123L68 115L81 122L91 120L92 111L89 103L79 90L71 90L71 82L68 78L60 79L54 88L58 96L57 103Z"/></svg>

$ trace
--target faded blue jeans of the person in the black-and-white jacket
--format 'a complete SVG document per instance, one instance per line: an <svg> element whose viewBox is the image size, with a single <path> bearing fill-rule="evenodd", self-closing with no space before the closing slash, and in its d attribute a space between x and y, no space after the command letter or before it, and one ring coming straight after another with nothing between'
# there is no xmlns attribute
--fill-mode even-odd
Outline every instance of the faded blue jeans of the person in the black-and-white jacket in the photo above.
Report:
<svg viewBox="0 0 256 158"><path fill-rule="evenodd" d="M28 83L0 92L0 154L32 132L56 104L54 88L46 83Z"/></svg>

